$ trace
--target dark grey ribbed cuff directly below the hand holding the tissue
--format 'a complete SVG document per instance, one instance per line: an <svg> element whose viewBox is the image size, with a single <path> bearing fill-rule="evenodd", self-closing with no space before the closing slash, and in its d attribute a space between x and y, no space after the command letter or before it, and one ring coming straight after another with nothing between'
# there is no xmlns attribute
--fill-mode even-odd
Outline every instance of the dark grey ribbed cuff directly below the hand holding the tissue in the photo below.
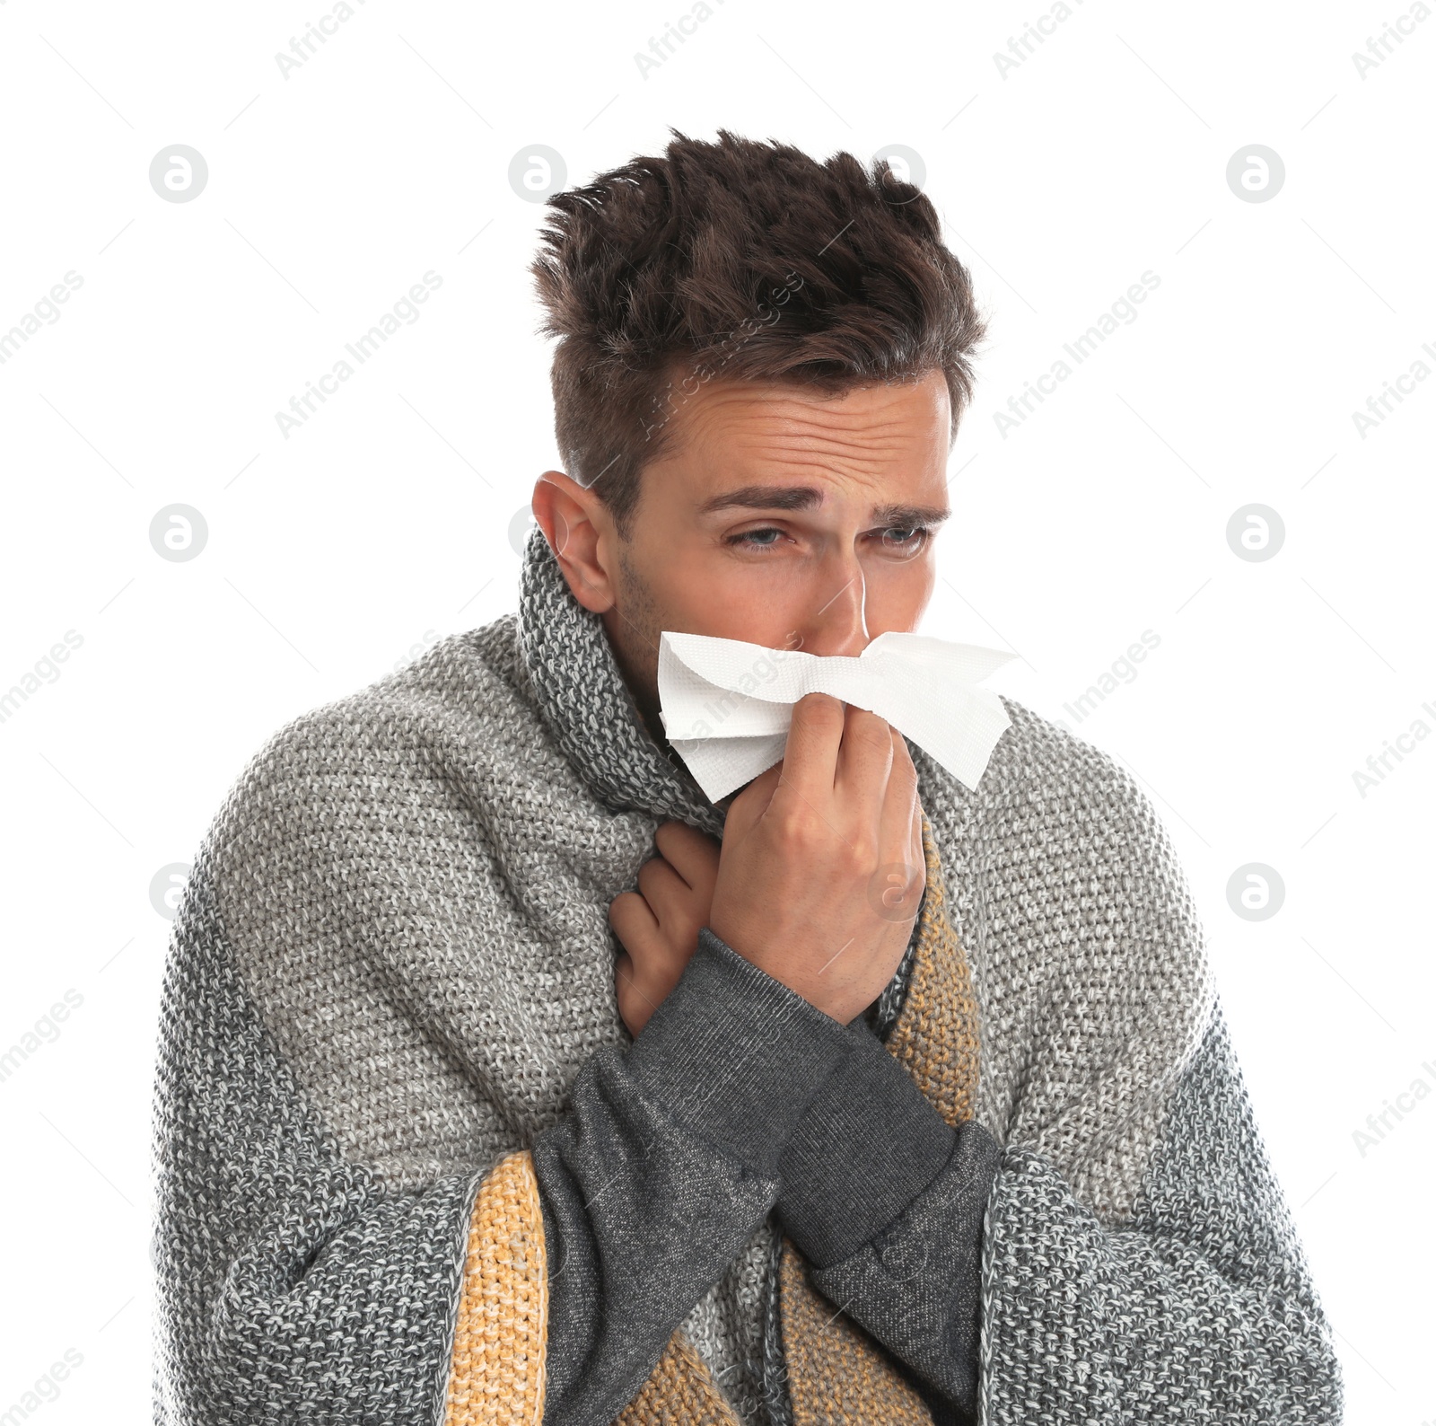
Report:
<svg viewBox="0 0 1436 1426"><path fill-rule="evenodd" d="M675 1120L773 1177L808 1101L852 1045L837 1021L705 926L628 1067Z"/></svg>

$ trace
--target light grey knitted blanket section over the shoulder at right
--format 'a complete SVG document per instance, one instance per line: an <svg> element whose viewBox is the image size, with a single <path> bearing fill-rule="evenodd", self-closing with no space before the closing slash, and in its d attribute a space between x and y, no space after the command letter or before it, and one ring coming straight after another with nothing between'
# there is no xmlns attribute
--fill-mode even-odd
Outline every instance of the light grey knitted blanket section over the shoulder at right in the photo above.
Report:
<svg viewBox="0 0 1436 1426"><path fill-rule="evenodd" d="M1132 778L1004 702L1012 727L976 792L913 752L976 990L975 1117L1116 1226L1213 1013L1205 934Z"/></svg>

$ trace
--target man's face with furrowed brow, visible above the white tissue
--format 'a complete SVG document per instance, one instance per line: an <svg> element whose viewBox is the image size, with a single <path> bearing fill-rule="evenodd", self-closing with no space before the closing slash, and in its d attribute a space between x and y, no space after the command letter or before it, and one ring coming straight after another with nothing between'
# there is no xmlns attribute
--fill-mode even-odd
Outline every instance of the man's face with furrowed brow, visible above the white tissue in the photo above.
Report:
<svg viewBox="0 0 1436 1426"><path fill-rule="evenodd" d="M574 548L592 548L592 566L576 584L564 565L580 602L602 612L655 735L663 630L856 656L916 627L948 515L941 371L841 397L714 381L671 421L668 454L643 469L629 539L582 492L592 530ZM544 520L537 494L534 509ZM560 512L560 538L576 515Z"/></svg>

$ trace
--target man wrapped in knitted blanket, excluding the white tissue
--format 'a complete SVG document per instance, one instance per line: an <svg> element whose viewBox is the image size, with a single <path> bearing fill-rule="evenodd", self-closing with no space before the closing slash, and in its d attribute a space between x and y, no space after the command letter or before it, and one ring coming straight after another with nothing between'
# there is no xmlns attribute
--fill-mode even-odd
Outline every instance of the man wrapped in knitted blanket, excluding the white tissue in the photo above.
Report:
<svg viewBox="0 0 1436 1426"><path fill-rule="evenodd" d="M557 196L520 610L280 730L161 1021L168 1423L1335 1422L1180 873L1008 700L976 792L801 700L714 806L663 630L916 627L981 336L886 165Z"/></svg>

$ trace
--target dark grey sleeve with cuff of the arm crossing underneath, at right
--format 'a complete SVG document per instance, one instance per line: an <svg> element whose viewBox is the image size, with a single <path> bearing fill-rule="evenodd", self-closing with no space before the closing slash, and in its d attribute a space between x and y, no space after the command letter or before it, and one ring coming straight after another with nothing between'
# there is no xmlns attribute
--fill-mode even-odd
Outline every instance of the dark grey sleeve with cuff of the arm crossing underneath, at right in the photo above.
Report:
<svg viewBox="0 0 1436 1426"><path fill-rule="evenodd" d="M778 1216L813 1285L965 1419L1001 1153L976 1120L952 1128L862 1019L844 1034L850 1054L780 1160Z"/></svg>

